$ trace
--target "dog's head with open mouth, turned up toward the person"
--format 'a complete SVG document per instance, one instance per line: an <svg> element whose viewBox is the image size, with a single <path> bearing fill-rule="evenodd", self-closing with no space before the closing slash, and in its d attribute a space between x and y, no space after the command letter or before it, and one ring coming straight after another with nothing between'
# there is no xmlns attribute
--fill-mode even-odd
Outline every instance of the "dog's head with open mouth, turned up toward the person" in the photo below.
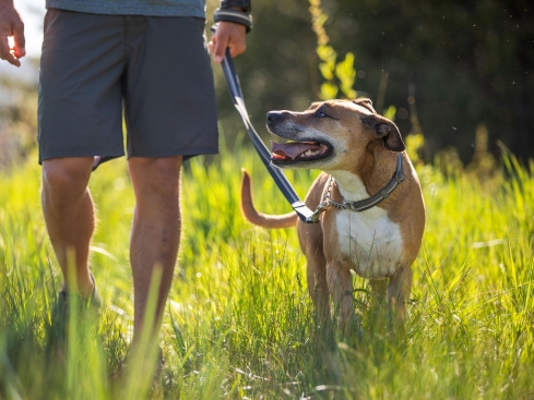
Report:
<svg viewBox="0 0 534 400"><path fill-rule="evenodd" d="M286 144L273 143L272 162L285 168L343 168L361 151L403 151L399 128L369 99L313 102L304 112L270 111L266 125Z"/></svg>

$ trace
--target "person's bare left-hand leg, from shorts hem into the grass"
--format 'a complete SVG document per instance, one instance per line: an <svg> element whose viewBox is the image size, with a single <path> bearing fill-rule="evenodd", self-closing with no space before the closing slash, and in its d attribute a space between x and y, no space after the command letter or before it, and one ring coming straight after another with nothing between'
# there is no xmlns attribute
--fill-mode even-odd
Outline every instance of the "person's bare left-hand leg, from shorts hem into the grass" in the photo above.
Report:
<svg viewBox="0 0 534 400"><path fill-rule="evenodd" d="M93 199L87 189L92 167L92 157L43 161L43 213L63 272L63 290L78 292L82 298L91 296L94 288L88 270L90 242L95 229ZM70 254L74 266L69 266ZM71 281L75 288L70 287Z"/></svg>

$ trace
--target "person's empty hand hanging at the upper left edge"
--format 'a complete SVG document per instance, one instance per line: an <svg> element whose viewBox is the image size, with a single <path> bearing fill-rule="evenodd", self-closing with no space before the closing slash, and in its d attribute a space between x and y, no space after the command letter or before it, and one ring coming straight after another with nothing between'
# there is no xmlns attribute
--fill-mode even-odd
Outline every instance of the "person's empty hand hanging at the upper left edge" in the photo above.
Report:
<svg viewBox="0 0 534 400"><path fill-rule="evenodd" d="M13 37L11 47L8 37ZM0 59L10 64L21 66L20 58L26 54L24 39L24 23L13 3L0 1Z"/></svg>

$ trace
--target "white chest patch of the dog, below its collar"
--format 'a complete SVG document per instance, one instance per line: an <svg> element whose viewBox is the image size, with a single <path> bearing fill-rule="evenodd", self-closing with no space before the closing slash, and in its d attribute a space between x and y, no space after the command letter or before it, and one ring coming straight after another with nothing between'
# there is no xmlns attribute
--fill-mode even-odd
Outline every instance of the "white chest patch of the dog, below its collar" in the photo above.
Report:
<svg viewBox="0 0 534 400"><path fill-rule="evenodd" d="M402 237L399 225L384 209L341 210L336 216L340 253L364 278L381 279L393 275L401 260Z"/></svg>

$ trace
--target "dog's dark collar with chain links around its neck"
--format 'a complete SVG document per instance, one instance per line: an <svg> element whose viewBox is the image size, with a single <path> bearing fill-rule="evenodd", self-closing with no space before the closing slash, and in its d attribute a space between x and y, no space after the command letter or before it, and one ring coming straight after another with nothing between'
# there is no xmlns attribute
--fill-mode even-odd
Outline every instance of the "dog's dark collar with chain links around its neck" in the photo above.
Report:
<svg viewBox="0 0 534 400"><path fill-rule="evenodd" d="M355 213L361 213L366 209L372 208L379 203L383 202L385 198L390 196L390 194L404 181L404 174L402 173L402 155L401 153L396 156L396 169L393 178L389 181L389 183L378 191L373 196L359 201L359 202L347 202L343 201L343 203L336 203L332 199L332 186L335 182L334 177L330 175L329 187L324 196L322 197L322 202L317 206L316 211L308 217L307 222L317 223L319 222L319 217L327 209L334 207L339 209L348 209Z"/></svg>

